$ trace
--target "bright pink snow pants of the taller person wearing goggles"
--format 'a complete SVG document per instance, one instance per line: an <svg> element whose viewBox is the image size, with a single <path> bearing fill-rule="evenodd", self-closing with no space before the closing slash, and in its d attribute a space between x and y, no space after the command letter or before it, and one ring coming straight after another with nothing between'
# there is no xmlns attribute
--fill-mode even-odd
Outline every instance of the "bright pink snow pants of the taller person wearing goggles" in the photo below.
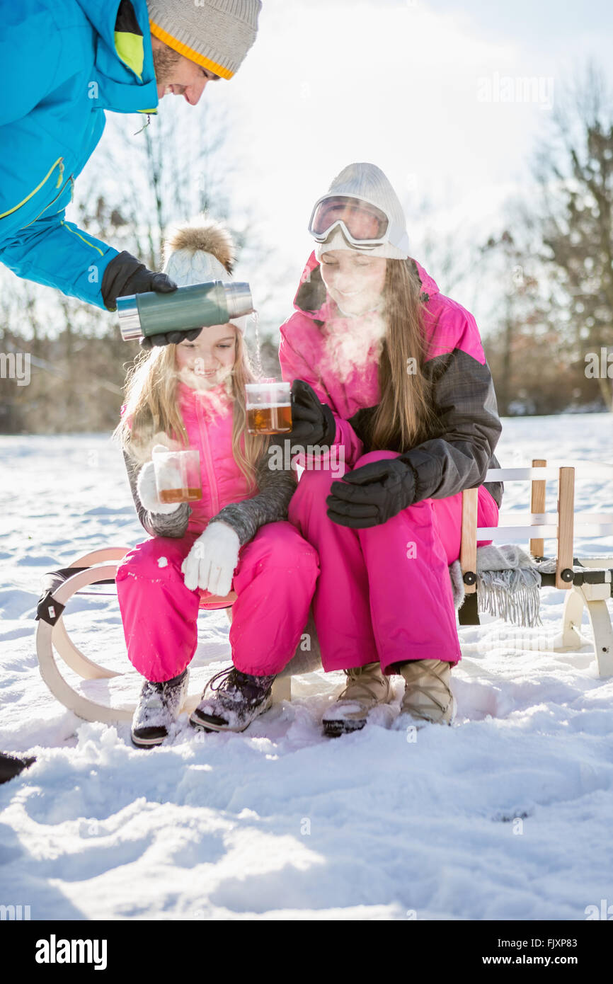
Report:
<svg viewBox="0 0 613 984"><path fill-rule="evenodd" d="M355 461L397 458L373 451ZM425 499L387 523L353 529L327 515L337 475L305 469L288 519L316 547L320 576L313 616L325 670L381 662L384 673L406 659L461 658L449 565L460 557L461 492ZM498 525L498 506L482 485L477 523ZM479 540L478 546L491 543Z"/></svg>

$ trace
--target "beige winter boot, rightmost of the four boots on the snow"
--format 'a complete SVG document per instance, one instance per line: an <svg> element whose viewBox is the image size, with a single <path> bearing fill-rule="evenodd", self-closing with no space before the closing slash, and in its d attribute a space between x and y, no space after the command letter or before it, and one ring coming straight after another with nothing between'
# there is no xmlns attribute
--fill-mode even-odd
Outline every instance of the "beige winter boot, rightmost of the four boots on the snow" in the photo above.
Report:
<svg viewBox="0 0 613 984"><path fill-rule="evenodd" d="M422 724L451 724L456 717L452 664L443 659L411 659L398 669L406 681L400 716L410 715Z"/></svg>

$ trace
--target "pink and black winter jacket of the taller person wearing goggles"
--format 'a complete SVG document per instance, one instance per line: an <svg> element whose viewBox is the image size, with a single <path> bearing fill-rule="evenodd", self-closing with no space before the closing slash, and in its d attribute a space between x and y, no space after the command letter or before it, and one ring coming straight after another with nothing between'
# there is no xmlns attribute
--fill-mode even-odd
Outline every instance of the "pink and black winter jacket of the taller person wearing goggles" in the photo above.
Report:
<svg viewBox="0 0 613 984"><path fill-rule="evenodd" d="M484 484L500 507L502 482L483 483L488 468L500 467L494 449L502 425L479 331L472 315L441 294L423 267L412 262L426 302L423 372L431 383L433 409L440 424L430 440L400 456L414 472L414 501L443 499ZM280 327L281 375L285 381L304 380L328 403L337 418L335 444L342 447L348 470L371 450L369 424L380 400L377 349L361 352L352 364L347 359L338 362L337 350L322 329L334 323L340 333L337 337L342 338L343 332L355 331L357 319L343 319L329 297L315 252L300 278L294 308Z"/></svg>

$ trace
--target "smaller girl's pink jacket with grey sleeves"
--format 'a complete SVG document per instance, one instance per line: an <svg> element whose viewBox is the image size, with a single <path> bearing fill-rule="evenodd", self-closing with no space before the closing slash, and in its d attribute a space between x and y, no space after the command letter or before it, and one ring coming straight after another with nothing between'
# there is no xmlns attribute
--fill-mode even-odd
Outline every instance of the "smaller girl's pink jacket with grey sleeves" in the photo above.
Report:
<svg viewBox="0 0 613 984"><path fill-rule="evenodd" d="M269 468L270 457L265 454L256 466L257 487L249 487L232 454L233 400L225 387L199 392L179 382L176 392L189 447L200 452L203 496L197 502L181 503L174 513L149 512L138 494L141 465L124 452L132 495L145 529L153 536L180 537L187 531L201 532L210 522L223 521L236 530L242 546L264 523L286 520L295 477L290 471ZM244 450L243 435L240 440Z"/></svg>

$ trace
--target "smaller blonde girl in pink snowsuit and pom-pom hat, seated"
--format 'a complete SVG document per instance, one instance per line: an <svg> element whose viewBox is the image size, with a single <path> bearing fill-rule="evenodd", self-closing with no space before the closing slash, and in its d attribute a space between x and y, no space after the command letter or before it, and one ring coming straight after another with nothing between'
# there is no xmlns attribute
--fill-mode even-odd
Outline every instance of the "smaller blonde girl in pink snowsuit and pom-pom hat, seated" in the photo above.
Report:
<svg viewBox="0 0 613 984"><path fill-rule="evenodd" d="M164 273L179 285L231 279L233 245L208 220L167 241ZM295 474L270 466L269 438L246 431L253 382L244 322L203 328L153 347L137 364L116 430L139 519L151 538L126 554L116 584L128 657L145 677L132 722L140 747L164 740L187 691L203 597L233 589L233 667L209 681L190 717L203 730L242 731L271 704L276 674L295 652L319 574L317 551L287 522ZM188 337L189 338L189 337ZM164 505L152 450L200 451L202 499ZM225 602L225 606L227 601Z"/></svg>

